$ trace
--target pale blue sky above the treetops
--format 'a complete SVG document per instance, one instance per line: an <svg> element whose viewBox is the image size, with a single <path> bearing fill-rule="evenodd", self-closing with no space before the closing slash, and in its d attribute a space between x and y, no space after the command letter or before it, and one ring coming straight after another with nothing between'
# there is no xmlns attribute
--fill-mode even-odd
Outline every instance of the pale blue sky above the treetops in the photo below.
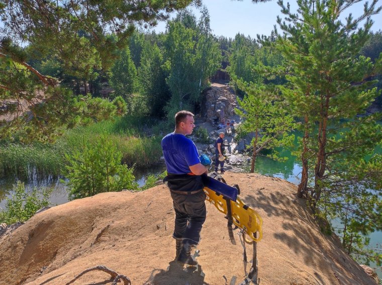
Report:
<svg viewBox="0 0 382 285"><path fill-rule="evenodd" d="M285 5L287 2L284 0ZM353 17L360 16L364 2L362 1L345 10L343 19L349 13L352 13ZM254 39L256 39L257 34L269 36L273 26L277 24L277 15L282 16L276 0L258 4L252 3L251 0L203 0L203 3L210 13L212 33L227 38L234 38L237 33ZM290 1L290 4L292 11L296 11L296 1ZM382 0L378 0L377 7L379 6L382 6ZM199 19L200 13L195 8L193 11ZM382 12L372 16L372 20L374 24L371 30L374 32L382 30ZM160 22L154 30L165 32L165 27L166 24Z"/></svg>

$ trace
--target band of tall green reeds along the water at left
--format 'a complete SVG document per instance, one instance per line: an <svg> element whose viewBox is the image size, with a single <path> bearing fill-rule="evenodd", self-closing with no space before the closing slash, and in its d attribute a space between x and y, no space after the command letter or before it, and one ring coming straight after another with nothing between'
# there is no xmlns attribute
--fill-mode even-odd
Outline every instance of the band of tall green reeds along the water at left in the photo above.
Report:
<svg viewBox="0 0 382 285"><path fill-rule="evenodd" d="M35 169L37 175L59 175L64 166L65 153L72 153L83 141L94 141L107 134L123 154L122 162L143 168L159 161L162 155L157 121L149 118L125 116L114 121L102 121L88 126L67 130L54 144L34 143L22 145L2 141L0 143L0 176L28 177Z"/></svg>

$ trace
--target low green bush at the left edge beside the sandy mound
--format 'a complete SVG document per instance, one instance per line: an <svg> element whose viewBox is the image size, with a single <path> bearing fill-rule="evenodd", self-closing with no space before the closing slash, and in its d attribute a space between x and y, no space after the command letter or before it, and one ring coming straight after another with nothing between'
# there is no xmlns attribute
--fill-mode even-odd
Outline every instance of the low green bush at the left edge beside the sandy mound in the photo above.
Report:
<svg viewBox="0 0 382 285"><path fill-rule="evenodd" d="M49 197L52 189L34 188L32 192L25 191L24 183L18 181L13 188L15 194L7 198L6 210L0 212L0 223L8 225L17 222L25 222L39 209L49 205Z"/></svg>

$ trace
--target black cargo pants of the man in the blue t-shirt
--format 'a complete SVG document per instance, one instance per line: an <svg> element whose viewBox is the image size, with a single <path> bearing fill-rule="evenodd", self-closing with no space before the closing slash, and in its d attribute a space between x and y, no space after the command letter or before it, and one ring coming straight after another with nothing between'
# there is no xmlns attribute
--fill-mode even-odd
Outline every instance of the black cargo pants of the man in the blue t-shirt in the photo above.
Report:
<svg viewBox="0 0 382 285"><path fill-rule="evenodd" d="M170 191L175 209L175 227L172 237L188 239L198 244L203 223L206 220L206 194L203 190L196 194L178 194Z"/></svg>

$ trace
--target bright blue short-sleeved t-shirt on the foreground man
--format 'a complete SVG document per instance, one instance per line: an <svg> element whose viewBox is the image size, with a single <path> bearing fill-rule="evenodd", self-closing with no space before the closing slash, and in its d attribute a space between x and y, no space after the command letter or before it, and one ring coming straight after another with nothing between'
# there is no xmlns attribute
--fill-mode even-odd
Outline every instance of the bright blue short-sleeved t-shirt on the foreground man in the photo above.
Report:
<svg viewBox="0 0 382 285"><path fill-rule="evenodd" d="M162 138L164 162L168 173L190 173L190 166L200 163L194 141L179 133L169 133Z"/></svg>

